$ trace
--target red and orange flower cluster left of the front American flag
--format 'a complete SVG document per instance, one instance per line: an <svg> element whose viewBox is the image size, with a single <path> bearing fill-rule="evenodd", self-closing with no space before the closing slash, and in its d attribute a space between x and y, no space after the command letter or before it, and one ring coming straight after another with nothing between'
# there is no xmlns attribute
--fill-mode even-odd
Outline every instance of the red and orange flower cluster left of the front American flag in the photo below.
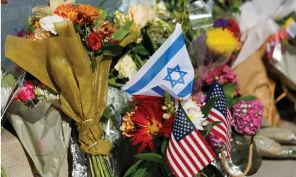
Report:
<svg viewBox="0 0 296 177"><path fill-rule="evenodd" d="M150 99L150 102L142 102L143 104L136 106L136 109L131 114L128 113L124 116L122 123L121 130L124 130L122 134L131 137L131 144L141 144L138 153L141 153L146 147L155 152L152 135L164 135L169 138L172 131L174 115L167 120L162 118L163 114L165 114L165 111L162 110L162 104L158 102L158 99L154 99L154 102L152 100Z"/></svg>

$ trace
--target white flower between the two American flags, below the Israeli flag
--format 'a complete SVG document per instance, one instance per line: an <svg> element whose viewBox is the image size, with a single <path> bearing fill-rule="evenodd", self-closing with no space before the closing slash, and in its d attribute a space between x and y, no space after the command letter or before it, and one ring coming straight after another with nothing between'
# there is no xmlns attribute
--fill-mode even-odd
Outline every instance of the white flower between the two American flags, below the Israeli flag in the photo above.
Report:
<svg viewBox="0 0 296 177"><path fill-rule="evenodd" d="M203 130L203 126L206 126L208 121L204 118L204 115L201 112L201 107L199 107L199 105L192 99L183 101L182 106L192 123L194 123L194 126L199 130Z"/></svg>

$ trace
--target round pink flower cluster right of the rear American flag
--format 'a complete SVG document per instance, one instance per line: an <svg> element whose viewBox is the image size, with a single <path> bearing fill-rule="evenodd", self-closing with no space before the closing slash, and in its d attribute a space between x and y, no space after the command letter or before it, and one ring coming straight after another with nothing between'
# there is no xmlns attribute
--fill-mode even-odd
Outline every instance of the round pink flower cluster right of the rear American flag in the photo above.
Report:
<svg viewBox="0 0 296 177"><path fill-rule="evenodd" d="M239 101L233 106L232 126L242 135L254 135L261 126L263 111L259 99Z"/></svg>

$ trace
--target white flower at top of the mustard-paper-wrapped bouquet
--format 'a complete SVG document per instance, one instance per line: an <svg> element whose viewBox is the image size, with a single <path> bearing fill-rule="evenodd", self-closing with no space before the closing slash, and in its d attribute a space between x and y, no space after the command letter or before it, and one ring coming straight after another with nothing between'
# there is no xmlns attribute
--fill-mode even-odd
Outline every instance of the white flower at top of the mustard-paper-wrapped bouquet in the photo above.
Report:
<svg viewBox="0 0 296 177"><path fill-rule="evenodd" d="M64 20L64 18L61 18L57 14L54 14L52 16L41 18L39 20L39 23L43 30L50 31L52 32L52 34L57 35L57 30L54 28L54 23L60 22L62 20Z"/></svg>

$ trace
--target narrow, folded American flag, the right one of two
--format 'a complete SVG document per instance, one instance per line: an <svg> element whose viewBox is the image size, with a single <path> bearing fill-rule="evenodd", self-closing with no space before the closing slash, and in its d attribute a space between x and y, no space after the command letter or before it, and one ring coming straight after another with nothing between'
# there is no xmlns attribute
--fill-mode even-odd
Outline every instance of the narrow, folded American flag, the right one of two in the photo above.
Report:
<svg viewBox="0 0 296 177"><path fill-rule="evenodd" d="M227 157L230 158L230 139L231 139L231 113L230 109L227 107L227 102L225 99L225 94L221 85L214 81L211 85L204 104L206 104L210 99L214 97L220 97L216 100L214 106L212 107L208 118L206 119L209 122L220 121L217 126L214 126L211 130L211 133L217 135L222 140L226 142L226 153Z"/></svg>

